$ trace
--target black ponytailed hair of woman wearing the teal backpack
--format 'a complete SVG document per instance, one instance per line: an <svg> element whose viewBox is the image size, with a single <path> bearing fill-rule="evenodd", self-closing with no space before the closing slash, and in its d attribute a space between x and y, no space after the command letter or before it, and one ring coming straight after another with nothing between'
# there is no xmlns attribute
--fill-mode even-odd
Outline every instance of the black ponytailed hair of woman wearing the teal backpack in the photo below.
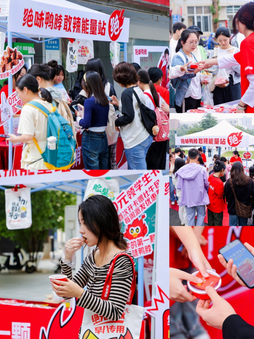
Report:
<svg viewBox="0 0 254 339"><path fill-rule="evenodd" d="M52 96L45 88L39 87L37 79L31 74L25 74L21 76L16 82L16 87L23 91L24 87L33 93L39 93L43 100L52 103Z"/></svg>

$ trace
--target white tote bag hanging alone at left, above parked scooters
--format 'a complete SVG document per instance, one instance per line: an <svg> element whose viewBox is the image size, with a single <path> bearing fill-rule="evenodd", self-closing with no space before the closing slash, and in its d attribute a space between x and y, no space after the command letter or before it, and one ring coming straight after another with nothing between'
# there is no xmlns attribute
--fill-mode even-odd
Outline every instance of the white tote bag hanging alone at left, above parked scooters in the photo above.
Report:
<svg viewBox="0 0 254 339"><path fill-rule="evenodd" d="M31 227L31 189L16 185L5 190L6 225L8 230Z"/></svg>

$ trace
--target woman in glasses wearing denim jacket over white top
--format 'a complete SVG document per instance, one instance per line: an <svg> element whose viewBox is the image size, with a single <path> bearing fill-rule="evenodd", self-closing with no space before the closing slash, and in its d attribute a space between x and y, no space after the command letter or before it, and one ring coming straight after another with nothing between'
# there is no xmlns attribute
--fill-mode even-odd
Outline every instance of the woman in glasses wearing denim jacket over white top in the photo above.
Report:
<svg viewBox="0 0 254 339"><path fill-rule="evenodd" d="M176 54L172 60L172 67L185 65L188 62L197 63L193 51L199 44L199 36L195 30L184 30L176 46ZM184 113L188 109L196 109L201 103L200 71L198 66L192 73L184 73L172 79L176 89L175 109L177 113Z"/></svg>

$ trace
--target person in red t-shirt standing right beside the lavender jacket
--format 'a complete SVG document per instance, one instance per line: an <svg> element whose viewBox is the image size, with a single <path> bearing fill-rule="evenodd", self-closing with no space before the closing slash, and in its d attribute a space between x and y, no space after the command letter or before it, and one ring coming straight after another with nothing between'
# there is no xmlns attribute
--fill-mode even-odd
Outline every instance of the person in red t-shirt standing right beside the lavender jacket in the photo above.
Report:
<svg viewBox="0 0 254 339"><path fill-rule="evenodd" d="M216 160L213 167L214 173L212 173L208 178L208 196L210 204L207 205L207 216L209 226L223 225L223 211L225 210L225 203L223 199L224 184L219 178L224 176L225 170L225 163L223 161Z"/></svg>

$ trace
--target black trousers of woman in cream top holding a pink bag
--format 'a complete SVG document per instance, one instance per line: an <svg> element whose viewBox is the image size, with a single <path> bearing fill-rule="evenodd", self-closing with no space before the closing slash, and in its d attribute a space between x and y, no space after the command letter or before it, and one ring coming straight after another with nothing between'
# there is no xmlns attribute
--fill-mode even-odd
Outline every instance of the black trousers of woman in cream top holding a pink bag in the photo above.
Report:
<svg viewBox="0 0 254 339"><path fill-rule="evenodd" d="M229 86L225 88L220 88L215 86L213 93L213 102L214 105L219 105L221 103L231 102L241 99L241 84L240 82L234 84L233 76L229 76Z"/></svg>

